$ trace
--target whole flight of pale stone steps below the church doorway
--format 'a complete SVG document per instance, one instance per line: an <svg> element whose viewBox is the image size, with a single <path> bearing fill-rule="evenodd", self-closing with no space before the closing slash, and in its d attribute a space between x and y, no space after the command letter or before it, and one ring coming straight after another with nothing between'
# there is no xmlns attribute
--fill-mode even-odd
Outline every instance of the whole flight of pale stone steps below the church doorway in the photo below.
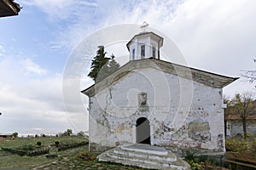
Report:
<svg viewBox="0 0 256 170"><path fill-rule="evenodd" d="M137 146L134 147L137 149ZM145 147L150 150L149 145ZM139 147L139 149L141 148L142 147ZM99 161L110 161L148 169L190 169L190 166L186 161L183 161L181 158L175 156L170 150L167 150L167 155L159 155L155 153L153 154L151 151L146 153L141 150L124 150L124 147L119 146L102 153L97 157L97 159Z"/></svg>

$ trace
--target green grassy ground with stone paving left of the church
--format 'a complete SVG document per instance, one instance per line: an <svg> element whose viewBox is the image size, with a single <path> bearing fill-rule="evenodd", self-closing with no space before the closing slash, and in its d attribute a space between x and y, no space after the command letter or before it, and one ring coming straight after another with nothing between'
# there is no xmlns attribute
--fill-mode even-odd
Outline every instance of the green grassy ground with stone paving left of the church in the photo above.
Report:
<svg viewBox="0 0 256 170"><path fill-rule="evenodd" d="M7 139L0 141L0 148L9 147L17 148L23 145L32 144L36 146L37 142L42 143L42 148L49 147L49 154L58 155L55 158L46 158L43 156L19 156L0 150L0 169L17 168L17 169L142 169L138 167L127 167L114 163L93 161L84 161L79 157L81 153L88 152L88 144L69 150L57 151L53 146L55 141L60 144L72 144L82 141L88 141L84 137L40 137L33 139ZM51 145L51 146L50 146Z"/></svg>

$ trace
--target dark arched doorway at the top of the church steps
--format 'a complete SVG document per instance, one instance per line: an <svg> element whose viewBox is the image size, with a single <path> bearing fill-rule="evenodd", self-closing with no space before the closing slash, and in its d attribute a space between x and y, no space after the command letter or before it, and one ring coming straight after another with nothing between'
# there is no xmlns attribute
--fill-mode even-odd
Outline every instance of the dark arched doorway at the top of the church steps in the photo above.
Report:
<svg viewBox="0 0 256 170"><path fill-rule="evenodd" d="M136 122L136 143L150 144L150 125L145 117L140 117Z"/></svg>

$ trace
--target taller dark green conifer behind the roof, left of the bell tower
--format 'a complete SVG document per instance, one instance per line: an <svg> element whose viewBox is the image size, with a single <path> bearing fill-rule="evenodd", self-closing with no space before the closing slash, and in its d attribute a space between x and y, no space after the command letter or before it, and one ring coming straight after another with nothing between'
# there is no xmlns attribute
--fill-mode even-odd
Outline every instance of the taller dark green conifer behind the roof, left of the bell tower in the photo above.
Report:
<svg viewBox="0 0 256 170"><path fill-rule="evenodd" d="M106 76L106 70L108 68L108 60L109 58L105 55L107 52L104 51L104 46L98 46L98 50L96 52L96 56L92 59L90 65L90 73L88 76L92 78L95 82L100 82Z"/></svg>

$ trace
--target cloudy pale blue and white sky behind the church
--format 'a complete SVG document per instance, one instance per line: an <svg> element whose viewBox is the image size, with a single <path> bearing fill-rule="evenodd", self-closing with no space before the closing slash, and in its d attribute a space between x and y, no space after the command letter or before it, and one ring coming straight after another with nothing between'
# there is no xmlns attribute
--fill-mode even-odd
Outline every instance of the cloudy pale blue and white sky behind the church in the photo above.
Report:
<svg viewBox="0 0 256 170"><path fill-rule="evenodd" d="M254 0L15 2L23 7L20 14L0 18L0 133L87 131L88 99L79 90L93 83L81 77L90 70L93 50L105 45L108 54L124 60L128 54L125 43L139 33L144 20L177 45L190 67L230 77L255 69ZM115 30L119 26L134 29ZM90 43L104 30L115 30L123 37L112 45ZM75 71L82 72L74 73L79 79L73 81L67 75L73 71L78 51L86 51L88 56L76 63L80 70ZM171 56L168 59L178 63ZM73 88L72 81L78 86ZM254 93L253 86L236 81L224 88L224 94ZM71 88L78 89L77 94Z"/></svg>

